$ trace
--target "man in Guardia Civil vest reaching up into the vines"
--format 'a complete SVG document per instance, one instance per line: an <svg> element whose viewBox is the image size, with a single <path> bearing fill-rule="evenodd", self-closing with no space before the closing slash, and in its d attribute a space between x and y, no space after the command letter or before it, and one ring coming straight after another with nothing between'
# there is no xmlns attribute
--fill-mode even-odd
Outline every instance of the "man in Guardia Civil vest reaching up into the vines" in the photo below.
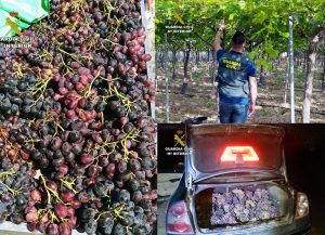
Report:
<svg viewBox="0 0 325 235"><path fill-rule="evenodd" d="M221 123L244 123L255 112L257 99L256 66L245 55L245 35L236 31L231 41L231 51L221 48L224 19L219 25L214 50L219 62L216 81L219 87L219 116Z"/></svg>

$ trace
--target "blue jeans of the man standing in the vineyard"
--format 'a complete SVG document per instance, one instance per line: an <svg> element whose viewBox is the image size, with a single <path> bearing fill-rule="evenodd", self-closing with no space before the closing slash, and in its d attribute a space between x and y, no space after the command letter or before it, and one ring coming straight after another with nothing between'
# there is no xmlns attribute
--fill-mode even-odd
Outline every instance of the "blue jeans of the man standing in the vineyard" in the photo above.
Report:
<svg viewBox="0 0 325 235"><path fill-rule="evenodd" d="M220 102L221 123L245 123L248 118L249 104L229 104Z"/></svg>

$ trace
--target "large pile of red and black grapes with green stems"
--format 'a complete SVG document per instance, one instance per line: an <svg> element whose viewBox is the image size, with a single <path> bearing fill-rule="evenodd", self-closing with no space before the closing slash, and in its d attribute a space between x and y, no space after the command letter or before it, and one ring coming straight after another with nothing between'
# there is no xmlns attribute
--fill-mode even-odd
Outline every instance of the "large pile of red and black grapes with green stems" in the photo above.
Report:
<svg viewBox="0 0 325 235"><path fill-rule="evenodd" d="M141 0L52 0L0 44L0 221L69 235L152 234L156 128Z"/></svg>

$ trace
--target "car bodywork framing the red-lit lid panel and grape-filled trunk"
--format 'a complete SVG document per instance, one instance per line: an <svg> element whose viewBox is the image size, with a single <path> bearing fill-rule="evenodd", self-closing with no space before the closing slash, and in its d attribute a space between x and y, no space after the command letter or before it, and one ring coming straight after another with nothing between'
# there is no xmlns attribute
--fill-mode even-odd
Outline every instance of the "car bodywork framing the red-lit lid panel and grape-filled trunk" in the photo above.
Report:
<svg viewBox="0 0 325 235"><path fill-rule="evenodd" d="M281 165L277 169L273 170L265 170L265 169L248 169L248 168L236 168L236 169L221 169L216 170L216 172L199 172L193 162L193 151L191 148L191 134L204 134L204 133L218 133L221 136L222 135L231 135L238 132L246 132L246 133L256 133L256 134L270 134L274 138L281 139L281 148L282 148L282 156L281 156ZM291 184L288 181L287 178L287 171L286 171L286 165L285 165L285 154L283 148L283 138L284 138L284 129L280 127L273 127L273 126L264 126L264 125L251 125L251 126L237 126L237 125L222 125L222 126L216 126L216 125L198 125L198 126L192 126L186 127L186 136L190 136L186 139L186 147L185 147L185 169L184 173L182 175L182 179L179 183L178 188L176 192L171 195L170 201L167 208L168 209L178 201L186 201L187 207L187 214L190 218L190 221L192 223L193 230L195 231L196 235L207 235L207 234L219 234L219 235L239 235L239 234L249 234L249 235L291 235L291 234L304 234L306 231L309 230L311 226L310 222L310 216L306 216L300 219L295 219L296 213L296 195L297 195L297 187L291 186ZM218 179L221 175L226 175L230 173L243 173L243 172L249 172L249 173L265 173L270 175L274 175L274 180L277 179L280 181L285 182L288 190L288 195L290 196L290 205L289 205L289 212L286 216L285 219L282 219L281 221L261 221L261 222L255 222L249 223L245 225L232 225L226 226L226 229L200 229L197 225L196 221L196 211L194 206L195 195L203 191L205 188L204 184L206 180L211 179ZM274 182L274 180L268 180L268 182ZM251 182L245 182L245 184L251 184L251 183L261 183L262 181L251 181ZM231 183L224 183L225 185L231 185ZM240 179L238 178L238 182L234 183L237 185L240 185ZM222 185L222 183L218 184L219 186ZM206 187L213 187L213 184L207 184ZM199 188L199 190L198 190ZM210 209L210 208L207 208ZM167 213L168 216L168 213ZM173 235L173 234L168 234Z"/></svg>

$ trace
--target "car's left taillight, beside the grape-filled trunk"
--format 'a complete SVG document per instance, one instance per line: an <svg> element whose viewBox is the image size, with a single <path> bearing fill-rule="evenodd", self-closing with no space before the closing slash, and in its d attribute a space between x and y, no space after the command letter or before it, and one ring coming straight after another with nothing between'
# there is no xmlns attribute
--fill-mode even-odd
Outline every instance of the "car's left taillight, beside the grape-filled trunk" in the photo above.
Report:
<svg viewBox="0 0 325 235"><path fill-rule="evenodd" d="M179 201L168 209L166 229L168 234L194 234L184 201Z"/></svg>

